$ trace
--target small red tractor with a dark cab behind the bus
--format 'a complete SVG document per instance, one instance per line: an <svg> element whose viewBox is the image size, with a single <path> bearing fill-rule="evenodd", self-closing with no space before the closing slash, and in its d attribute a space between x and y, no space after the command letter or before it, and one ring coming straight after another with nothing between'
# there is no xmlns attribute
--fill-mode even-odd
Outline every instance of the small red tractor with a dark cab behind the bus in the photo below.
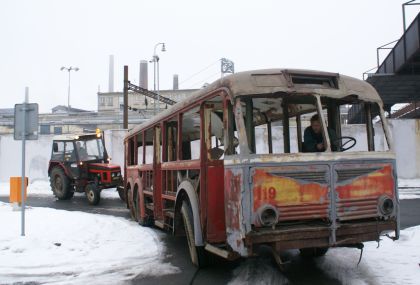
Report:
<svg viewBox="0 0 420 285"><path fill-rule="evenodd" d="M124 200L121 168L109 161L102 133L56 136L48 166L51 190L59 200L85 192L97 205L102 189L117 188Z"/></svg>

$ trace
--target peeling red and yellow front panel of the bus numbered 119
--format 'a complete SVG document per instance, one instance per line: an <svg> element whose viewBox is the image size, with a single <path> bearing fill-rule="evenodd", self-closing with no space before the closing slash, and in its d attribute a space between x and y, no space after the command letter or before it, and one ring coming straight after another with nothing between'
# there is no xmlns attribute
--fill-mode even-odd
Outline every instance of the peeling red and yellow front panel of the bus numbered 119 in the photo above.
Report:
<svg viewBox="0 0 420 285"><path fill-rule="evenodd" d="M227 223L231 222L228 243L241 244L245 236L248 250L237 251L242 256L251 254L253 243L275 243L273 246L282 249L341 246L375 240L384 230L393 230L398 237L395 160L378 159L381 157L378 154L377 159L305 163L299 160L279 163L274 159L276 162L255 163L256 157L243 156L242 162L247 163L225 165L226 203L228 209L234 209L227 212ZM245 169L251 170L249 175ZM234 183L235 180L242 183ZM247 197L246 185L251 186L251 209L241 205L243 197ZM383 195L395 203L387 216L378 209ZM266 205L274 206L279 212L275 227L258 223L258 210ZM252 229L244 226L248 219ZM294 225L287 226L290 222Z"/></svg>

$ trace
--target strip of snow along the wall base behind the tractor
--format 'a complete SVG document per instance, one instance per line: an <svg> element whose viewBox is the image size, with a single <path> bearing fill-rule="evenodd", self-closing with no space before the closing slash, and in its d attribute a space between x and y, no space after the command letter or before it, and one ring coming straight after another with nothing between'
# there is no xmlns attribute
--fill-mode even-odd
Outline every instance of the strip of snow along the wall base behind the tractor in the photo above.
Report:
<svg viewBox="0 0 420 285"><path fill-rule="evenodd" d="M0 196L9 196L10 184L9 182L0 182ZM52 196L50 182L48 180L35 180L30 182L27 189L28 197L31 196ZM76 195L84 195L76 193ZM103 189L101 191L101 198L103 199L120 199L116 188Z"/></svg>

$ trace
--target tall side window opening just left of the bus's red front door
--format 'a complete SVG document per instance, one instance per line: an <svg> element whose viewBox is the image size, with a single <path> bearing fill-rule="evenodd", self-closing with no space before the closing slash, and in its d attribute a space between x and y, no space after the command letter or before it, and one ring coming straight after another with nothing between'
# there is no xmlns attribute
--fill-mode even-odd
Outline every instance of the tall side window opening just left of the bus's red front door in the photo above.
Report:
<svg viewBox="0 0 420 285"><path fill-rule="evenodd" d="M200 159L200 107L182 115L182 160Z"/></svg>

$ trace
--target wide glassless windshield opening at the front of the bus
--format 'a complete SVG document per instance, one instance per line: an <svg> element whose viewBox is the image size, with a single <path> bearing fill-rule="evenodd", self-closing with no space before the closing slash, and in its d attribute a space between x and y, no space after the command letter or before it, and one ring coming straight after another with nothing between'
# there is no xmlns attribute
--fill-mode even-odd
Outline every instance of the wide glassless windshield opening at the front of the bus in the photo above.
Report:
<svg viewBox="0 0 420 285"><path fill-rule="evenodd" d="M377 103L354 96L243 96L246 144L256 154L387 151Z"/></svg>

